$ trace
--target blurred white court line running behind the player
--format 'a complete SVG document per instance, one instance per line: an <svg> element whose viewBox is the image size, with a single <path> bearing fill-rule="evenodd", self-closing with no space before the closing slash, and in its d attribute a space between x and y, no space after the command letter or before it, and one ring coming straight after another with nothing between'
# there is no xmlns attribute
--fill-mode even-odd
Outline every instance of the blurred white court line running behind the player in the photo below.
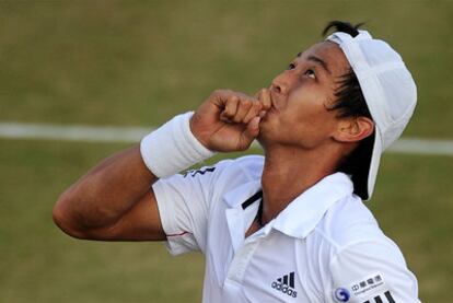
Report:
<svg viewBox="0 0 453 303"><path fill-rule="evenodd" d="M153 128L86 125L0 123L0 138L91 142L138 142ZM257 147L255 144L255 147ZM390 152L453 155L453 140L403 138Z"/></svg>

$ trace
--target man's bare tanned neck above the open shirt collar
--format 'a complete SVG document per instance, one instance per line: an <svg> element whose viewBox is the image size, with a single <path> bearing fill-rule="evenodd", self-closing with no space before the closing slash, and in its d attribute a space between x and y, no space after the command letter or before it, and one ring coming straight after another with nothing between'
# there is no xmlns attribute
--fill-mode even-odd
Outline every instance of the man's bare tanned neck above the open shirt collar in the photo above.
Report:
<svg viewBox="0 0 453 303"><path fill-rule="evenodd" d="M332 150L307 151L288 147L267 150L262 176L262 221L269 222L298 196L333 174L337 159L337 154L333 155Z"/></svg>

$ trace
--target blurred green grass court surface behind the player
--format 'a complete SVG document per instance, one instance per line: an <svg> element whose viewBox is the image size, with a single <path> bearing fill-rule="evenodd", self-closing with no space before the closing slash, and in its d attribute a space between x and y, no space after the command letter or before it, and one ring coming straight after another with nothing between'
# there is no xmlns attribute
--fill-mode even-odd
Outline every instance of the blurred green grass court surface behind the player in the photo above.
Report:
<svg viewBox="0 0 453 303"><path fill-rule="evenodd" d="M1 1L0 123L159 126L214 89L253 94L321 39L367 21L405 58L418 108L405 138L453 140L452 1ZM0 302L200 302L200 254L82 242L58 195L128 143L0 139ZM251 151L251 152L257 152ZM218 155L210 163L225 156ZM388 153L369 203L422 302L450 302L453 158Z"/></svg>

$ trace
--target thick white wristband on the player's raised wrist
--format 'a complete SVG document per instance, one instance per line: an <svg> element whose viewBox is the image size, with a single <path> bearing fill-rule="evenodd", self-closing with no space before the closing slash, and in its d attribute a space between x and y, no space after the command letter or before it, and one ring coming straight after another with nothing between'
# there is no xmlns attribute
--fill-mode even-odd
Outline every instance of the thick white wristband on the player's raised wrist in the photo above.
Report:
<svg viewBox="0 0 453 303"><path fill-rule="evenodd" d="M194 112L178 115L141 140L143 162L156 177L177 174L214 154L191 133L193 115Z"/></svg>

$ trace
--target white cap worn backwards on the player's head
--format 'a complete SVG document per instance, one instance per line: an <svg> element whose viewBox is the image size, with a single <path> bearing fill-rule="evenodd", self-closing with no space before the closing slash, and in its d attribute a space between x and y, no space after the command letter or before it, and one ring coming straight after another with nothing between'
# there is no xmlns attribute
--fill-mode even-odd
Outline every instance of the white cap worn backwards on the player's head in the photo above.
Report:
<svg viewBox="0 0 453 303"><path fill-rule="evenodd" d="M374 145L368 171L367 191L373 194L381 154L406 128L417 103L417 88L402 57L387 43L374 39L367 31L356 37L336 32L326 40L342 49L359 80L375 124Z"/></svg>

